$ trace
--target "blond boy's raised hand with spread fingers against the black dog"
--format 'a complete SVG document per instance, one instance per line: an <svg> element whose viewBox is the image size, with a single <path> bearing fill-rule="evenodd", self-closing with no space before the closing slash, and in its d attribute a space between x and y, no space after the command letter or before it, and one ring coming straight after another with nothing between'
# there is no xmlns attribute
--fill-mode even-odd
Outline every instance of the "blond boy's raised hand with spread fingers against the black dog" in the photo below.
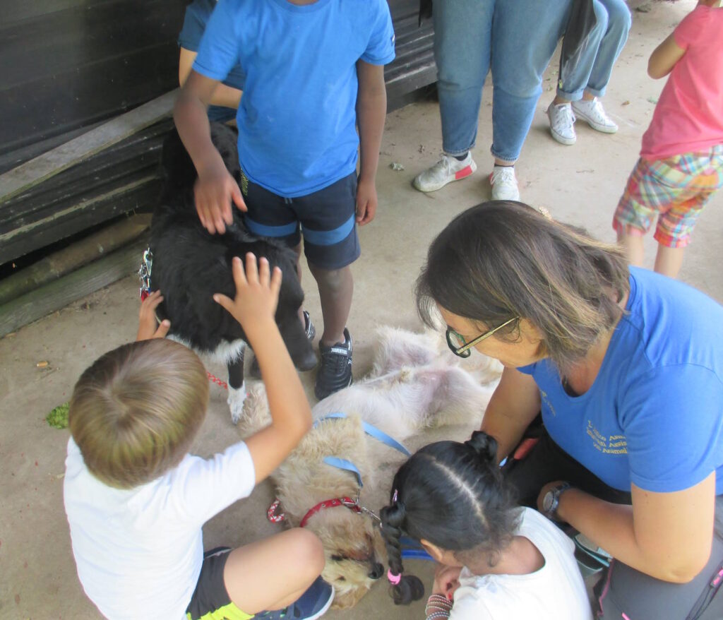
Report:
<svg viewBox="0 0 723 620"><path fill-rule="evenodd" d="M246 271L244 272L241 259L234 257L232 266L234 284L236 284L236 297L233 300L221 293L216 293L213 300L222 305L231 313L244 331L254 331L255 328L268 326L274 323L278 292L281 289L281 269L273 268L270 271L266 258L260 258L256 264L256 256L249 252L246 255Z"/></svg>

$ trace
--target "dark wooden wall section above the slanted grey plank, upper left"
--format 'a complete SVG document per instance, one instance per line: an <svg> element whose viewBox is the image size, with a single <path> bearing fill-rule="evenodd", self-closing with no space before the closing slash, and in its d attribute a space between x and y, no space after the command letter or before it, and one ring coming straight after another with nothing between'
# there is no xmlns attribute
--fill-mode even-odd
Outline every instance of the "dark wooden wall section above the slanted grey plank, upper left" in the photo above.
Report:
<svg viewBox="0 0 723 620"><path fill-rule="evenodd" d="M0 156L33 156L174 88L185 4L0 0Z"/></svg>

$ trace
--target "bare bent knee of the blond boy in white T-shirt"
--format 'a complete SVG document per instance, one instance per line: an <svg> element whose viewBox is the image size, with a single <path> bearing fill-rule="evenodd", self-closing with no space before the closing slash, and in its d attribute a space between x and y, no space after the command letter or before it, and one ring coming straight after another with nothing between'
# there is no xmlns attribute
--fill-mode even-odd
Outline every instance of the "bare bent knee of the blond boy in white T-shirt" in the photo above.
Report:
<svg viewBox="0 0 723 620"><path fill-rule="evenodd" d="M245 613L291 605L324 569L321 541L309 530L286 530L231 551L223 568L229 598Z"/></svg>

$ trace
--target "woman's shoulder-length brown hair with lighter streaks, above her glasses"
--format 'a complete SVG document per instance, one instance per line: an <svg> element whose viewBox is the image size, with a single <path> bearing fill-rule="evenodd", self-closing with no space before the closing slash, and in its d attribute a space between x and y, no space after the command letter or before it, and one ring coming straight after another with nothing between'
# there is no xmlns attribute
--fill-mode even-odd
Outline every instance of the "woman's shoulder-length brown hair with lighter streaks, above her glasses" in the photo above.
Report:
<svg viewBox="0 0 723 620"><path fill-rule="evenodd" d="M464 211L432 242L416 301L428 325L437 305L488 329L525 318L564 372L615 326L628 277L619 247L523 203L495 200ZM495 336L515 341L518 321Z"/></svg>

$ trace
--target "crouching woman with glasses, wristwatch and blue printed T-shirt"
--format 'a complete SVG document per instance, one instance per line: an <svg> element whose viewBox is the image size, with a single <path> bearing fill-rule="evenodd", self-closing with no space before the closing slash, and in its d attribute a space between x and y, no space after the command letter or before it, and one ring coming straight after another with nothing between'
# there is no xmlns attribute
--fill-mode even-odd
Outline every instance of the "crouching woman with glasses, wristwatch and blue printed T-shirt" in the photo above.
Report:
<svg viewBox="0 0 723 620"><path fill-rule="evenodd" d="M723 307L509 201L440 233L417 304L505 366L481 430L522 504L615 559L597 617L722 618Z"/></svg>

